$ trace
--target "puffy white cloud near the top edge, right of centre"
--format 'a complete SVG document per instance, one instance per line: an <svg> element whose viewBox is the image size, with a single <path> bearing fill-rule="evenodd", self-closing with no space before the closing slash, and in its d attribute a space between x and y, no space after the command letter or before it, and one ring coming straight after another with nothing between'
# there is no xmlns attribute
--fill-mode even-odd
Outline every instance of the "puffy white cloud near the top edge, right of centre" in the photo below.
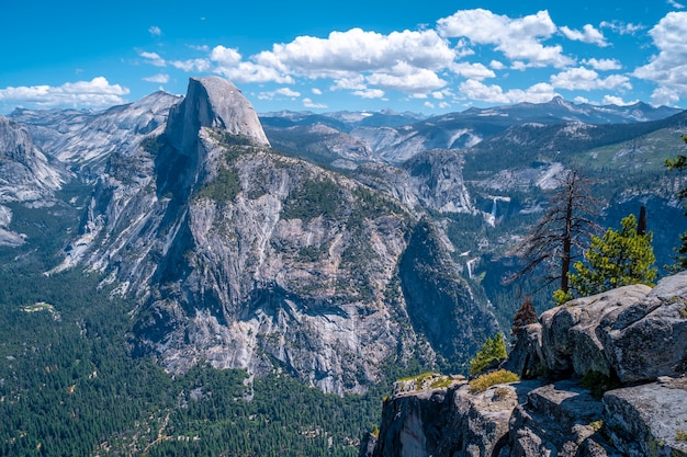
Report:
<svg viewBox="0 0 687 457"><path fill-rule="evenodd" d="M473 44L495 45L507 58L527 67L561 68L573 64L563 55L561 46L541 44L556 31L548 11L510 19L483 9L461 10L437 21L437 26L447 37L465 37Z"/></svg>

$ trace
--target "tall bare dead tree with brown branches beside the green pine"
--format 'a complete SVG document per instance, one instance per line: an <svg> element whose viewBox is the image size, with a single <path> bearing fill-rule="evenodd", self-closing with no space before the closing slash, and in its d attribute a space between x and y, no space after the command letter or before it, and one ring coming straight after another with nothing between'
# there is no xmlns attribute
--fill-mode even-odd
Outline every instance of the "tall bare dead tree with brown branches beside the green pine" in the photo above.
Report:
<svg viewBox="0 0 687 457"><path fill-rule="evenodd" d="M559 179L544 215L516 248L523 266L509 283L545 266L542 287L560 279L561 290L568 292L572 262L587 247L590 232L599 229L594 222L599 205L590 187L592 180L583 178L578 170Z"/></svg>

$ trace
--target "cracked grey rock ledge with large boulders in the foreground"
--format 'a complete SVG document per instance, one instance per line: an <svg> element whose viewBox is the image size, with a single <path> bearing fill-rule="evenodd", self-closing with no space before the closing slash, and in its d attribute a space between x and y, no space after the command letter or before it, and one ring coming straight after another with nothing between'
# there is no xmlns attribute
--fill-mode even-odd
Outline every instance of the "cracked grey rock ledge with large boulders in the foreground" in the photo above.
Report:
<svg viewBox="0 0 687 457"><path fill-rule="evenodd" d="M519 382L396 382L361 456L687 456L686 365L687 273L576 299L520 330Z"/></svg>

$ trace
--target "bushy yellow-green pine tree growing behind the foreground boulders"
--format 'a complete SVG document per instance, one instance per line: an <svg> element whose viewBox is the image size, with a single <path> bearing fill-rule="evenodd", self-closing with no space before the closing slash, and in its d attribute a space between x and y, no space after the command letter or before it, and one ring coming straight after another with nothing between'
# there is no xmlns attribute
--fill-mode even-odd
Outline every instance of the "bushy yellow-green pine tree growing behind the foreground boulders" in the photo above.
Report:
<svg viewBox="0 0 687 457"><path fill-rule="evenodd" d="M558 297L564 298L562 301L630 284L654 285L656 269L653 264L656 258L652 232L639 235L634 215L622 219L620 225L620 230L609 228L602 237L592 237L584 262L575 262L575 273L570 275L570 293L565 297L558 294Z"/></svg>

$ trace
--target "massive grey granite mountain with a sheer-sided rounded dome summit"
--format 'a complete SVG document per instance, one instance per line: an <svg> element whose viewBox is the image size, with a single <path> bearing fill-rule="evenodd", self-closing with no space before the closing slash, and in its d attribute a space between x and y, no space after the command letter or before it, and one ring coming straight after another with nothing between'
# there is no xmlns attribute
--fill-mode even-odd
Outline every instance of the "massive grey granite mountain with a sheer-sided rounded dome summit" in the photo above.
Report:
<svg viewBox="0 0 687 457"><path fill-rule="evenodd" d="M236 87L202 78L110 153L57 270L88 265L135 297L132 347L170 370L277 367L342 393L388 359L465 362L495 331L451 250L402 202L271 150ZM428 320L421 292L438 287L446 316Z"/></svg>

